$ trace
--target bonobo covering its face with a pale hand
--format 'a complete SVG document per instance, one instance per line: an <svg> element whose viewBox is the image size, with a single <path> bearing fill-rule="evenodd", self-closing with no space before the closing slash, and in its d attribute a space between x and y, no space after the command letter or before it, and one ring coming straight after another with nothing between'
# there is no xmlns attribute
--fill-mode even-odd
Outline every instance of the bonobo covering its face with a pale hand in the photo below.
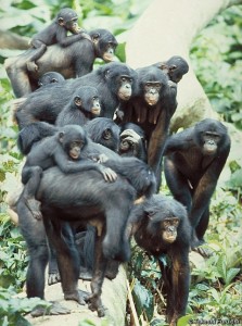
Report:
<svg viewBox="0 0 242 326"><path fill-rule="evenodd" d="M147 162L147 140L143 129L132 123L120 125L118 153L122 156L136 156Z"/></svg>

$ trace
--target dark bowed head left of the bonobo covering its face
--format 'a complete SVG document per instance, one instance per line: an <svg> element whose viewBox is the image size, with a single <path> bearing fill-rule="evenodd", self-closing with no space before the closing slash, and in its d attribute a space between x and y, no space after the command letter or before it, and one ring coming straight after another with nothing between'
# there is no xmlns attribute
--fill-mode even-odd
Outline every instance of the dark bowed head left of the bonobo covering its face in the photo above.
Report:
<svg viewBox="0 0 242 326"><path fill-rule="evenodd" d="M112 151L117 152L119 143L119 127L110 117L95 117L85 126L88 137L94 142L101 143Z"/></svg>

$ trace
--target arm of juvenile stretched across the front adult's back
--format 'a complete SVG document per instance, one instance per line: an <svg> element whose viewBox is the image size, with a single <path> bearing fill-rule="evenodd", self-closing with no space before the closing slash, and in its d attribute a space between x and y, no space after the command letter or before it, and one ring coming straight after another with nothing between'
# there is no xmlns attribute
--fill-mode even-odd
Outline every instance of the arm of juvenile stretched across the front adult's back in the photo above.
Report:
<svg viewBox="0 0 242 326"><path fill-rule="evenodd" d="M105 167L102 164L94 163L87 159L80 159L76 162L69 161L67 155L63 153L63 149L61 148L61 146L55 149L54 161L61 168L61 171L66 174L95 170L103 175L106 181L115 181L115 179L117 178L117 175L113 170Z"/></svg>

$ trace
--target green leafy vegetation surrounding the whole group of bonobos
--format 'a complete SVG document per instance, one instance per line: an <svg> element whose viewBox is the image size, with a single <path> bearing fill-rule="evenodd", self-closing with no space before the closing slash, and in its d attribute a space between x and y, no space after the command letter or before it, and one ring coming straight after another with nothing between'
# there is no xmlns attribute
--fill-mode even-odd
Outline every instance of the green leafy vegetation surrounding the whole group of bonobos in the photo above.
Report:
<svg viewBox="0 0 242 326"><path fill-rule="evenodd" d="M61 7L72 7L79 13L86 28L101 26L113 32L119 47L117 58L125 61L125 40L149 1L139 0L16 0L1 4L1 28L31 37L48 23ZM242 7L233 7L217 16L191 48L191 59L214 110L228 122L234 133L242 129ZM15 141L17 127L12 122L11 100L14 98L2 63L20 51L0 50L0 325L27 325L24 314L36 301L13 299L22 290L27 266L25 242L10 221L5 198L15 189L22 160ZM176 53L175 53L176 54ZM161 58L163 60L163 58ZM239 134L240 135L240 134ZM239 138L241 139L241 138ZM238 151L241 148L238 147ZM204 260L191 254L192 279L188 313L192 318L242 321L242 237L241 237L241 173L242 159L230 160L227 175L219 183L212 200L212 217L207 231L207 248L213 255ZM163 191L168 195L164 186ZM156 261L133 244L129 264L130 287L136 313L141 324L165 325L164 302L157 290L160 272ZM191 317L190 316L190 317ZM127 308L127 318L130 308Z"/></svg>

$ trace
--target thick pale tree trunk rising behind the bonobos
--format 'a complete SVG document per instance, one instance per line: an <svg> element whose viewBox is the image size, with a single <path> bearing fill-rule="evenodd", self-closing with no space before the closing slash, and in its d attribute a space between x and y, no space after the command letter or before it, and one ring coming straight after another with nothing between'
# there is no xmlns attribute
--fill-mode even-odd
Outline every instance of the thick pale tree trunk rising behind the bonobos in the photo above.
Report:
<svg viewBox="0 0 242 326"><path fill-rule="evenodd" d="M178 85L178 109L170 129L188 127L204 117L213 117L209 101L199 83L189 59L193 38L213 17L241 0L154 0L130 32L126 61L141 67L181 55L190 66Z"/></svg>

